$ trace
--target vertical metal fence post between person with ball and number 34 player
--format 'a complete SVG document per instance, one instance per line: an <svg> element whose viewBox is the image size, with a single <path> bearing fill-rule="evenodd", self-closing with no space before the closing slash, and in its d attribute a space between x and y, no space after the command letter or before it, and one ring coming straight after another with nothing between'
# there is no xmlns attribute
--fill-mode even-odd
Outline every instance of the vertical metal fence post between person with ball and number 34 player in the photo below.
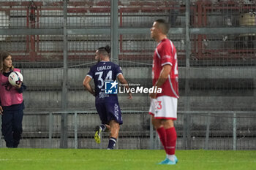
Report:
<svg viewBox="0 0 256 170"><path fill-rule="evenodd" d="M63 82L61 94L61 109L67 109L67 0L63 4ZM61 114L61 148L67 148L67 113Z"/></svg>

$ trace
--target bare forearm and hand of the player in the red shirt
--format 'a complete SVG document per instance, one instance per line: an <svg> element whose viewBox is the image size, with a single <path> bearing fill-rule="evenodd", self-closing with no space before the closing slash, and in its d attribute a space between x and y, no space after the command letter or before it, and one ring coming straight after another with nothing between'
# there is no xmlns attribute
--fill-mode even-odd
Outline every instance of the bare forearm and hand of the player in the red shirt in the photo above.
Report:
<svg viewBox="0 0 256 170"><path fill-rule="evenodd" d="M170 66L170 64L166 64L165 66L162 67L162 70L159 75L159 79L154 85L154 88L160 88L165 83L165 81L168 78L168 75L170 74L171 68L172 66ZM157 98L157 93L150 93L149 96L151 98Z"/></svg>

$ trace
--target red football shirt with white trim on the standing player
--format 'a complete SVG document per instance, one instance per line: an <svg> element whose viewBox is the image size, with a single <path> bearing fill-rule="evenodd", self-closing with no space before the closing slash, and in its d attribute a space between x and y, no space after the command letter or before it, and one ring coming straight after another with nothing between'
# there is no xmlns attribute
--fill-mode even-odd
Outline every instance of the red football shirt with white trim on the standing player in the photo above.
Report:
<svg viewBox="0 0 256 170"><path fill-rule="evenodd" d="M174 47L173 42L170 39L162 39L157 45L154 51L154 59L152 66L152 78L153 85L156 84L159 79L162 67L169 64L171 67L170 74L167 80L160 87L162 88L162 93L157 94L158 96L171 96L178 98L178 63L177 63L177 53L176 47Z"/></svg>

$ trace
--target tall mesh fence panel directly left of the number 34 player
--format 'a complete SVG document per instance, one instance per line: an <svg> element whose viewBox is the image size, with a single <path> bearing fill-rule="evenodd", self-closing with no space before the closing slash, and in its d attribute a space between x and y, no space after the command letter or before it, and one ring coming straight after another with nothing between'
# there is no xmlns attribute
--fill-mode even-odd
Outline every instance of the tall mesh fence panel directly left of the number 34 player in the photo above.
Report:
<svg viewBox="0 0 256 170"><path fill-rule="evenodd" d="M96 64L95 51L99 47L110 45L109 35L68 36L68 108L95 110L94 96L83 88L83 79L91 66ZM94 87L93 81L91 86Z"/></svg>

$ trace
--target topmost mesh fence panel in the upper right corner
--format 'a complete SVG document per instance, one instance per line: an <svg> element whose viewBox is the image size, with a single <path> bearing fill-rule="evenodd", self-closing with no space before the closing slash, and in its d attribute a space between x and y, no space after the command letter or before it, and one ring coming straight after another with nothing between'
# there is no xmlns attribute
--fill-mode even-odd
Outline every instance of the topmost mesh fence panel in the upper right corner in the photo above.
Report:
<svg viewBox="0 0 256 170"><path fill-rule="evenodd" d="M255 0L194 1L192 26L255 26Z"/></svg>

